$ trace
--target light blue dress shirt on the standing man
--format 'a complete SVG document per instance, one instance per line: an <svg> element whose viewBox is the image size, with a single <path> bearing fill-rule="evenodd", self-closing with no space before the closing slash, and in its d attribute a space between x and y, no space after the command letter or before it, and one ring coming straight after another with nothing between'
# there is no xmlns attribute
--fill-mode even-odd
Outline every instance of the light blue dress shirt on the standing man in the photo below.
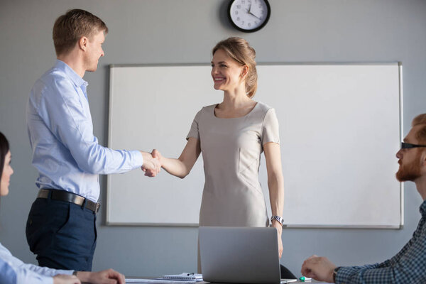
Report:
<svg viewBox="0 0 426 284"><path fill-rule="evenodd" d="M99 174L141 167L140 151L100 146L93 135L87 82L60 60L31 89L26 108L32 163L40 188L99 198Z"/></svg>

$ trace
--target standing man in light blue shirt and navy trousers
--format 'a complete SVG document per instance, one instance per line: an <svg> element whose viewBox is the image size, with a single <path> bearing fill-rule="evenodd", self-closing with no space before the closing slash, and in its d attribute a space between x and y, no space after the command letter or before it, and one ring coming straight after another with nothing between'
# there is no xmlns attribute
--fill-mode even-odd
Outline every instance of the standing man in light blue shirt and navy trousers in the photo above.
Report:
<svg viewBox="0 0 426 284"><path fill-rule="evenodd" d="M26 236L40 266L91 271L98 175L142 167L149 170L146 175L155 176L160 170L151 153L111 150L93 135L82 77L97 70L107 32L105 23L87 11L60 16L53 26L58 60L35 82L28 99L28 136L40 191L28 215Z"/></svg>

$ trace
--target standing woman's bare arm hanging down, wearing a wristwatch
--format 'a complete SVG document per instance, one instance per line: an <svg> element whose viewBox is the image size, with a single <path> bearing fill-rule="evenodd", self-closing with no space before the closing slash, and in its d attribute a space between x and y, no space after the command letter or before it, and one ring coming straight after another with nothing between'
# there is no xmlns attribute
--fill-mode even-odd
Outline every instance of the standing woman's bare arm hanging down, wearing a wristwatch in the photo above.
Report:
<svg viewBox="0 0 426 284"><path fill-rule="evenodd" d="M282 217L284 207L284 178L283 167L281 166L281 151L280 144L266 143L263 145L265 152L266 170L268 171L268 189L269 200L271 201L271 210L273 215ZM283 253L283 242L281 233L283 226L276 220L273 220L272 226L278 231L278 249Z"/></svg>

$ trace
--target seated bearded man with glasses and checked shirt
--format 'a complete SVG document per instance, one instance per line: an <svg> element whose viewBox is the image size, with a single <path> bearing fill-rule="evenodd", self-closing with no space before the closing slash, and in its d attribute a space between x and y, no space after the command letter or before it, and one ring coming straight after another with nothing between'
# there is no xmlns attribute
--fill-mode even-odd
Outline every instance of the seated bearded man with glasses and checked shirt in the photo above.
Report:
<svg viewBox="0 0 426 284"><path fill-rule="evenodd" d="M413 238L383 263L337 267L325 257L311 256L302 265L303 275L329 283L426 283L426 114L416 116L412 126L396 153L396 178L415 182L423 199Z"/></svg>

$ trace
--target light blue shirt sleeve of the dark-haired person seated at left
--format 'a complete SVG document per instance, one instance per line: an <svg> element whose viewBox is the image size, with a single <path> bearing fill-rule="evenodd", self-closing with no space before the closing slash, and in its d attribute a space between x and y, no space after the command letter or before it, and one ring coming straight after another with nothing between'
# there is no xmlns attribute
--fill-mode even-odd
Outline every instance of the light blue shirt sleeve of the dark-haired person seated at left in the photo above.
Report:
<svg viewBox="0 0 426 284"><path fill-rule="evenodd" d="M1 284L53 284L53 276L72 272L23 263L0 244Z"/></svg>

